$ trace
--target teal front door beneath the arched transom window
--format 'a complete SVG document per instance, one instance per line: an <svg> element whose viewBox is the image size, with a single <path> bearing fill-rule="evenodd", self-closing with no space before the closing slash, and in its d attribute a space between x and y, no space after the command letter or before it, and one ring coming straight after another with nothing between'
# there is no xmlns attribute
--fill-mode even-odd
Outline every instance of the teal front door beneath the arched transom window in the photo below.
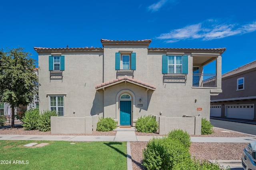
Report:
<svg viewBox="0 0 256 170"><path fill-rule="evenodd" d="M120 101L120 125L131 125L131 101Z"/></svg>

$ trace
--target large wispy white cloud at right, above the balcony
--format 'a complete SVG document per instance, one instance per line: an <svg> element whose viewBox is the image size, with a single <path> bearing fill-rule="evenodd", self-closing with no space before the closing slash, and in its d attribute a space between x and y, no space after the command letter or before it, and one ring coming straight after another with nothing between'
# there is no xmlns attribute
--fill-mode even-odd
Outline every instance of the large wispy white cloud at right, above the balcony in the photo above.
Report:
<svg viewBox="0 0 256 170"><path fill-rule="evenodd" d="M212 24L214 20L188 25L180 29L174 29L170 33L163 33L157 39L166 39L167 43L174 43L185 39L212 40L229 37L232 35L242 35L256 31L256 21L246 25L238 24ZM210 26L209 26L210 25Z"/></svg>

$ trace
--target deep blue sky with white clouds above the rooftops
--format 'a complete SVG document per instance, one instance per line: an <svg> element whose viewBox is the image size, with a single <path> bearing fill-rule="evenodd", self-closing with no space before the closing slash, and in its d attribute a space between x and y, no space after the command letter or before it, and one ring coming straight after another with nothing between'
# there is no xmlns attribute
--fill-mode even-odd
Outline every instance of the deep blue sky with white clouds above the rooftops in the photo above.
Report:
<svg viewBox="0 0 256 170"><path fill-rule="evenodd" d="M226 48L222 73L256 60L255 0L9 0L0 48L102 47L100 39L152 39L150 47Z"/></svg>

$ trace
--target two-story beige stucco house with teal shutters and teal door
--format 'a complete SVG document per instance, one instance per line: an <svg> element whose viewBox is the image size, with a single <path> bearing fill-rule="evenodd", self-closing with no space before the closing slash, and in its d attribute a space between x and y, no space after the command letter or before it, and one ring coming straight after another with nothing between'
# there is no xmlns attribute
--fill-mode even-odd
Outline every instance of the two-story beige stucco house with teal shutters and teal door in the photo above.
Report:
<svg viewBox="0 0 256 170"><path fill-rule="evenodd" d="M131 126L143 115L209 119L210 96L222 92L225 48L149 48L150 39L101 43L103 48L34 47L40 111L54 109L69 120L100 115ZM212 61L216 72L204 74Z"/></svg>

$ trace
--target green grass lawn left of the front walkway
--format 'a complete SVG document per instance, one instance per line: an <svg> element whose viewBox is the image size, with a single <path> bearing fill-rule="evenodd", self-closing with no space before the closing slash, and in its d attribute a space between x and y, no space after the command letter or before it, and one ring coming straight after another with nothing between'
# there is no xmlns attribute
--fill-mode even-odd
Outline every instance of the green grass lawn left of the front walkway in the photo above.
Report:
<svg viewBox="0 0 256 170"><path fill-rule="evenodd" d="M28 143L49 145L23 147ZM72 142L0 140L0 170L127 170L126 142L70 143ZM6 161L10 164L6 164Z"/></svg>

